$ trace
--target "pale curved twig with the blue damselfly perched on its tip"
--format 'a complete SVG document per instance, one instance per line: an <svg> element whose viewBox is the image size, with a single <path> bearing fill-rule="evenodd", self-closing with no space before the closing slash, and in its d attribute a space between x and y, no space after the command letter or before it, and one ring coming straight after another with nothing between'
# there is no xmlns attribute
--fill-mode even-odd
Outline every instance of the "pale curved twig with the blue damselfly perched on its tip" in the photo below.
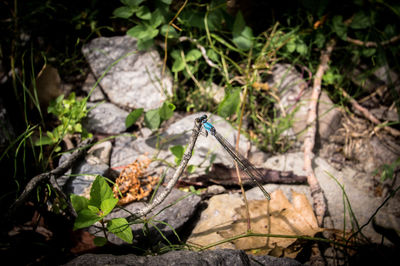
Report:
<svg viewBox="0 0 400 266"><path fill-rule="evenodd" d="M178 179L181 177L183 171L185 170L187 164L189 163L190 158L192 157L192 152L194 145L196 144L196 140L200 134L201 130L201 123L197 119L195 120L194 127L192 130L192 136L190 137L188 147L186 149L185 154L182 157L181 163L179 164L178 168L176 169L174 175L172 176L171 180L168 182L165 190L158 195L151 204L145 206L144 208L137 210L136 212L132 213L130 216L127 217L128 221L136 220L140 217L147 215L151 212L156 206L158 206L164 199L169 195L172 191L172 188L175 186Z"/></svg>

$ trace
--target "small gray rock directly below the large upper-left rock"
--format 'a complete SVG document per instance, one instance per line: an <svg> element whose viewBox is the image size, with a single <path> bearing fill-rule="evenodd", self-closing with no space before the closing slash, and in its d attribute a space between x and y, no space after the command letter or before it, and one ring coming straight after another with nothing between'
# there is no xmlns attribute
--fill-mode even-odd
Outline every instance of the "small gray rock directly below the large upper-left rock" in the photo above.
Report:
<svg viewBox="0 0 400 266"><path fill-rule="evenodd" d="M96 106L87 103L87 107ZM92 109L83 120L83 126L89 132L101 134L118 134L126 130L125 119L128 112L118 108L112 103L102 103Z"/></svg>

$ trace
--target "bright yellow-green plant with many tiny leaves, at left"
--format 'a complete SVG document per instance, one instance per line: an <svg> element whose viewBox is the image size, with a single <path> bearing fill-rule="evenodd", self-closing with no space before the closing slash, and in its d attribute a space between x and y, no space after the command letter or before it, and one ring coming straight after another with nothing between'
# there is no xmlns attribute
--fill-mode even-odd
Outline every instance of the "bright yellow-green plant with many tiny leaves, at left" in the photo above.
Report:
<svg viewBox="0 0 400 266"><path fill-rule="evenodd" d="M84 118L88 110L86 109L86 98L77 100L75 93L71 93L68 99L64 99L64 95L60 95L50 103L47 108L48 113L57 116L60 125L53 131L47 131L47 136L41 137L36 141L36 146L51 145L61 141L67 134L81 134L82 138L91 137L83 127L80 121ZM55 151L59 151L61 147L57 146Z"/></svg>

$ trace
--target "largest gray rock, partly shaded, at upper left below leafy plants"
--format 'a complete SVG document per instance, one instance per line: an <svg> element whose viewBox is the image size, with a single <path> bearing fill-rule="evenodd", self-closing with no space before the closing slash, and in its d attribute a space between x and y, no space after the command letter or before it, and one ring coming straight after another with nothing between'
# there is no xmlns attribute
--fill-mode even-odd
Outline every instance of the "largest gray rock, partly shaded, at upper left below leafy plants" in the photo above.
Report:
<svg viewBox="0 0 400 266"><path fill-rule="evenodd" d="M96 79L107 72L100 86L112 103L148 111L172 95L172 78L161 77L163 62L156 50L137 51L136 43L130 36L100 37L84 45L82 52Z"/></svg>

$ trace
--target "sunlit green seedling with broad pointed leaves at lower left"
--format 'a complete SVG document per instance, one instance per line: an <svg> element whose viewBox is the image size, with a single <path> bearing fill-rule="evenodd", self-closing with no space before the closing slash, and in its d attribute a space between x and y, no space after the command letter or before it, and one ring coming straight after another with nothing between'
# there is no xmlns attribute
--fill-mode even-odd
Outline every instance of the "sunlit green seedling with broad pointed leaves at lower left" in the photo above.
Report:
<svg viewBox="0 0 400 266"><path fill-rule="evenodd" d="M105 237L95 238L96 245L104 245L107 242L106 231L115 234L123 241L132 243L133 235L129 223L125 218L114 218L105 220L105 217L114 209L118 199L106 180L102 176L97 176L90 190L90 199L71 194L71 203L78 217L75 220L74 230L85 228L100 222Z"/></svg>

